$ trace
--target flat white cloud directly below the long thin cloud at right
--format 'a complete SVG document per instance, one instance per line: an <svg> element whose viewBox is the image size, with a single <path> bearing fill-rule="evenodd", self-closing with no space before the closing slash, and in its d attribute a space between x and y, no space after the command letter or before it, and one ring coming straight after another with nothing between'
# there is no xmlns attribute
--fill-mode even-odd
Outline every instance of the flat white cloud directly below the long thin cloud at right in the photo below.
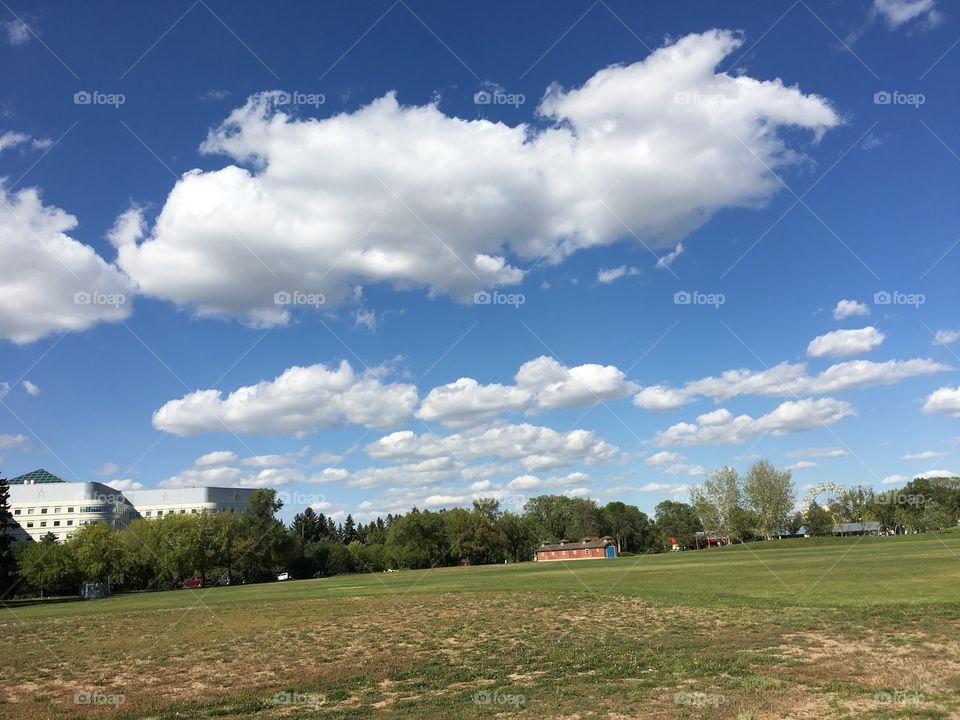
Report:
<svg viewBox="0 0 960 720"><path fill-rule="evenodd" d="M853 414L849 403L834 398L791 400L758 418L719 408L699 415L696 423L677 423L657 433L655 442L667 447L738 445L761 433L778 436L827 427Z"/></svg>

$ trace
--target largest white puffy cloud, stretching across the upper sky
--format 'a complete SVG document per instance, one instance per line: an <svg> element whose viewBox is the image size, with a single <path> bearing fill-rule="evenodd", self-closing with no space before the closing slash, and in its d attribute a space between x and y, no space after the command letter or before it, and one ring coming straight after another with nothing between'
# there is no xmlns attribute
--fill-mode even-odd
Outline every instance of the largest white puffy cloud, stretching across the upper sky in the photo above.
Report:
<svg viewBox="0 0 960 720"><path fill-rule="evenodd" d="M402 106L300 119L252 97L202 145L235 164L185 173L118 263L152 297L201 315L285 323L285 291L330 307L386 283L468 299L515 265L635 234L669 247L721 208L764 203L771 169L801 162L780 136L839 118L780 80L717 72L742 44L689 35L582 87L551 87L547 127ZM601 198L600 196L603 195Z"/></svg>

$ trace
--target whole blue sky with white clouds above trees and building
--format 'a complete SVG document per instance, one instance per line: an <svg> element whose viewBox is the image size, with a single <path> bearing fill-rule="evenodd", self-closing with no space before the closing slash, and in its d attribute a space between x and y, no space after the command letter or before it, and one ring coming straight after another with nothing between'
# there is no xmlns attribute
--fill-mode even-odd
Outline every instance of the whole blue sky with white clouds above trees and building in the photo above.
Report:
<svg viewBox="0 0 960 720"><path fill-rule="evenodd" d="M367 519L960 466L945 3L0 22L8 476Z"/></svg>

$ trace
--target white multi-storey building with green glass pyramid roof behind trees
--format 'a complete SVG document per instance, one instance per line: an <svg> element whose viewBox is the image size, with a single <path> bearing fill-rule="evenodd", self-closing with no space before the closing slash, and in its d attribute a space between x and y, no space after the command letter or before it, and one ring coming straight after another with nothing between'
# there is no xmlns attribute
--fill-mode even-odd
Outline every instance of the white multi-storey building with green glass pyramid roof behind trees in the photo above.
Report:
<svg viewBox="0 0 960 720"><path fill-rule="evenodd" d="M98 482L71 483L46 470L12 478L10 512L15 540L39 540L52 533L57 540L97 522L125 527L131 520L169 515L247 511L247 488L192 487L121 492Z"/></svg>

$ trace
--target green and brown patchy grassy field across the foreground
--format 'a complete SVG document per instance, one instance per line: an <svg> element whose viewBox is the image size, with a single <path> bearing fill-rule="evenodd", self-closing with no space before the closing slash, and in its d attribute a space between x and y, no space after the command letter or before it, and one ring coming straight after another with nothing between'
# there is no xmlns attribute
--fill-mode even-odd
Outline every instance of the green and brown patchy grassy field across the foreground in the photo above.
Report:
<svg viewBox="0 0 960 720"><path fill-rule="evenodd" d="M0 718L960 717L960 534L0 614Z"/></svg>

